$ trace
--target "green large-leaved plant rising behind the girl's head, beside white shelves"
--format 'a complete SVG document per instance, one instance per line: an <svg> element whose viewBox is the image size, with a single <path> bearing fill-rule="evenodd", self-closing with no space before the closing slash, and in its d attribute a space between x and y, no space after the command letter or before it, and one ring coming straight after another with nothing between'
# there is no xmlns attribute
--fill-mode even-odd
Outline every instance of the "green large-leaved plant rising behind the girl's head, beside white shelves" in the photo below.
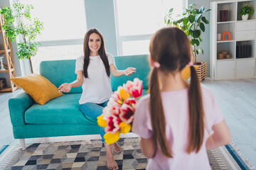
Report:
<svg viewBox="0 0 256 170"><path fill-rule="evenodd" d="M210 11L210 9L205 9L203 6L201 8L196 8L196 4L190 4L188 8L185 8L182 15L178 15L178 20L173 18L174 8L169 10L169 13L164 17L164 23L167 25L176 25L181 28L186 35L188 35L191 41L193 49L193 62L197 64L196 55L202 52L203 49L199 48L201 42L203 42L202 32L205 32L205 24L209 24L209 21L203 16L203 13Z"/></svg>

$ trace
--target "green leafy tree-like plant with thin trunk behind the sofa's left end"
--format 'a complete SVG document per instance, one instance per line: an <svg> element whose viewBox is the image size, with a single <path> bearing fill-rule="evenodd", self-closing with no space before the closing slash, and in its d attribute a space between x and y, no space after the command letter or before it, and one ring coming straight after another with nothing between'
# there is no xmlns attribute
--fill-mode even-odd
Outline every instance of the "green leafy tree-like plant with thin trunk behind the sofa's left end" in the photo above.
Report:
<svg viewBox="0 0 256 170"><path fill-rule="evenodd" d="M33 67L31 63L31 57L35 56L38 52L38 42L36 36L41 34L43 30L43 22L38 18L31 19L32 5L24 5L16 3L12 8L1 8L1 15L4 16L4 26L2 28L5 31L6 36L14 41L18 35L21 35L21 40L17 43L18 59L26 58L30 62L31 72L33 73Z"/></svg>

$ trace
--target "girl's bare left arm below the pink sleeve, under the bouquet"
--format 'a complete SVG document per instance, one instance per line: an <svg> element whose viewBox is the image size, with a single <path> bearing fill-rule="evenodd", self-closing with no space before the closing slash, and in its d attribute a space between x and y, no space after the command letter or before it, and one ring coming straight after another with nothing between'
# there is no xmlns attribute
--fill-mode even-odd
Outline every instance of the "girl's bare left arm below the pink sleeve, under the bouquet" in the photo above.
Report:
<svg viewBox="0 0 256 170"><path fill-rule="evenodd" d="M139 147L142 149L142 153L147 158L153 158L156 154L156 145L153 137L150 137L149 139L141 138L139 142Z"/></svg>

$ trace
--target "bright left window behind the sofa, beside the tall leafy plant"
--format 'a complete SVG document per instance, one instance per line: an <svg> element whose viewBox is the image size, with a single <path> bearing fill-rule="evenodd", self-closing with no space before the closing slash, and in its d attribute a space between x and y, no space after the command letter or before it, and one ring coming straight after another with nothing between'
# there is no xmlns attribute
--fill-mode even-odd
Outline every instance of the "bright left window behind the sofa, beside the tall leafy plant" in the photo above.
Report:
<svg viewBox="0 0 256 170"><path fill-rule="evenodd" d="M83 38L87 31L84 0L20 0L32 4L32 18L43 21L44 30L36 41L41 43L32 57L35 73L43 60L64 60L80 57Z"/></svg>

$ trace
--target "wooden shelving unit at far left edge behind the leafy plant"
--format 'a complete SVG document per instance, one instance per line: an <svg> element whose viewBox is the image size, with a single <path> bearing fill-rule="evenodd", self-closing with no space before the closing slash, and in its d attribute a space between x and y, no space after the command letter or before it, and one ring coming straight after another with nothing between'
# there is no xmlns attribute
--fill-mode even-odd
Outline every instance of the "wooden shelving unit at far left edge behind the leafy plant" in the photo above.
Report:
<svg viewBox="0 0 256 170"><path fill-rule="evenodd" d="M4 57L4 71L0 71L0 77L9 77L6 81L9 81L10 86L2 89L0 92L15 91L18 86L11 81L11 78L16 77L16 71L14 66L14 56L11 50L11 41L6 37L2 26L4 25L4 17L0 14L0 40L2 40L3 49L0 49L0 57ZM6 76L6 74L8 74Z"/></svg>

